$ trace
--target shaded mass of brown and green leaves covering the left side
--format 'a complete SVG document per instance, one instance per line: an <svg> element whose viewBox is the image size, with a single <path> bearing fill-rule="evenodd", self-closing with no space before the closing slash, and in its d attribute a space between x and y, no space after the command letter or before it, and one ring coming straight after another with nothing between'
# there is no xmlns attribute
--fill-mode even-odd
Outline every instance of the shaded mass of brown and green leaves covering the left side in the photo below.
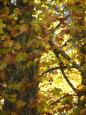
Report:
<svg viewBox="0 0 86 115"><path fill-rule="evenodd" d="M34 1L16 1L16 5L8 0L1 3L0 99L5 99L3 111L20 114L25 106L36 106L33 90L37 87L37 63L45 49L43 41L37 38L41 29L32 16Z"/></svg>

